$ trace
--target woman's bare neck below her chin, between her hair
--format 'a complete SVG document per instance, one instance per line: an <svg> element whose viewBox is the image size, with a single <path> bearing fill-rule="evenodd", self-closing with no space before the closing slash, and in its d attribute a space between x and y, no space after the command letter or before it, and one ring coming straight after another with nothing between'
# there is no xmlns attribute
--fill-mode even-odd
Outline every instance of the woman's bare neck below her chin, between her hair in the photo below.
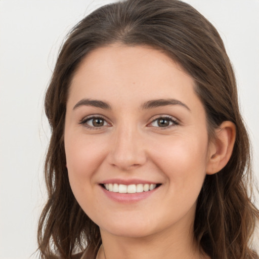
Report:
<svg viewBox="0 0 259 259"><path fill-rule="evenodd" d="M172 235L156 233L147 237L112 236L101 230L103 245L97 259L201 259L202 256L190 229Z"/></svg>

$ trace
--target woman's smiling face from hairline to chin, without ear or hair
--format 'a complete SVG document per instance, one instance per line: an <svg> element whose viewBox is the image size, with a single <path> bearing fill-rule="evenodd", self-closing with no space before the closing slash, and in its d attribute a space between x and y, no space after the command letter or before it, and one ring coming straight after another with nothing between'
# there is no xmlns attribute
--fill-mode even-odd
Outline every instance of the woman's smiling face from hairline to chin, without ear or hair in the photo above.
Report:
<svg viewBox="0 0 259 259"><path fill-rule="evenodd" d="M208 150L205 111L180 65L123 45L84 58L68 96L65 152L74 196L101 232L189 231Z"/></svg>

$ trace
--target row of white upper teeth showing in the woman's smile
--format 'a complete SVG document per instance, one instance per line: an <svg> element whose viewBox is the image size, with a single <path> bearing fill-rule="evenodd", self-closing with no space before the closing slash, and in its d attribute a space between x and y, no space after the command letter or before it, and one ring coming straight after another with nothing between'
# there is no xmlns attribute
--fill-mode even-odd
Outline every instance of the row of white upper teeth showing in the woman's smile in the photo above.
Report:
<svg viewBox="0 0 259 259"><path fill-rule="evenodd" d="M119 193L140 193L152 191L156 188L156 184L105 184L105 189L110 192L119 192Z"/></svg>

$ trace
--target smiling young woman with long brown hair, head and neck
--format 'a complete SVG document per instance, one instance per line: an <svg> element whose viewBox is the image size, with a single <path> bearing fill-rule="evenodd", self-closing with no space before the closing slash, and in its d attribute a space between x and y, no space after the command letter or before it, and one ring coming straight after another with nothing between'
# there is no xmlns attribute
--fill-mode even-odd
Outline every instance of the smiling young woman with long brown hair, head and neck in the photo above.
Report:
<svg viewBox="0 0 259 259"><path fill-rule="evenodd" d="M45 109L42 258L258 258L233 69L191 6L130 0L85 17Z"/></svg>

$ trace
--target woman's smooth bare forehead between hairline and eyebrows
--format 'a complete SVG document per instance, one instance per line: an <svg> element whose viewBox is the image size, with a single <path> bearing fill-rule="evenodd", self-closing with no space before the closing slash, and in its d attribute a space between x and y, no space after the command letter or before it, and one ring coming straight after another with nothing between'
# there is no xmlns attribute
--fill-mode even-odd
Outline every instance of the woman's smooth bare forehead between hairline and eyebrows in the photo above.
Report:
<svg viewBox="0 0 259 259"><path fill-rule="evenodd" d="M161 51L111 45L83 59L72 78L68 102L80 98L121 105L165 98L199 101L194 86L184 69Z"/></svg>

